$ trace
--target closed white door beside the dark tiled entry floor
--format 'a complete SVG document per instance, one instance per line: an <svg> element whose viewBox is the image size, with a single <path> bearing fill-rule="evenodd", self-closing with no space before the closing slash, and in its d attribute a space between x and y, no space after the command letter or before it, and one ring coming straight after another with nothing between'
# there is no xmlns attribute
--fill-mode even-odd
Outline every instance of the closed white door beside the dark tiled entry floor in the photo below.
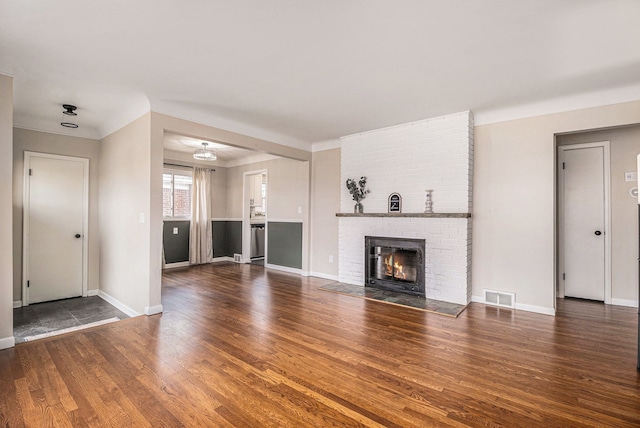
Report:
<svg viewBox="0 0 640 428"><path fill-rule="evenodd" d="M25 153L25 305L86 294L88 168L87 159Z"/></svg>

